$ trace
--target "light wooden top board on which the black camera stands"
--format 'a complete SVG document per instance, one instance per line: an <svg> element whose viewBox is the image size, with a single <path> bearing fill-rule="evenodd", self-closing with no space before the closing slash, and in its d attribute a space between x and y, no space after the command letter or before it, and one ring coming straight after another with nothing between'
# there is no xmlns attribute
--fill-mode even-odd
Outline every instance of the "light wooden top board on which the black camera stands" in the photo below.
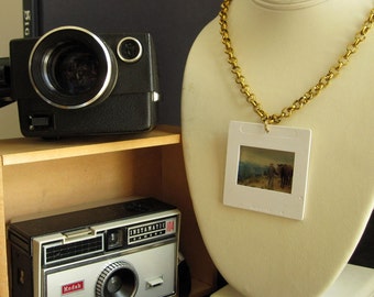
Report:
<svg viewBox="0 0 374 297"><path fill-rule="evenodd" d="M12 139L0 142L2 166L32 162L87 156L125 150L152 147L180 143L180 129L161 125L142 134L64 139L45 141L41 139Z"/></svg>

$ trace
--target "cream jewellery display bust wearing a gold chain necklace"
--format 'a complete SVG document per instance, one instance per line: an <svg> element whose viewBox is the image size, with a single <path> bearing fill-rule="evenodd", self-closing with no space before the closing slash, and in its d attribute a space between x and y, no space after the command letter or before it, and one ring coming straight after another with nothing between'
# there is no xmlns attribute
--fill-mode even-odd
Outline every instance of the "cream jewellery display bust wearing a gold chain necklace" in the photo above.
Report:
<svg viewBox="0 0 374 297"><path fill-rule="evenodd" d="M233 0L232 46L268 113L304 95L344 54L373 0ZM353 253L374 206L374 30L311 102L280 125L312 131L304 220L223 205L229 122L260 123L227 63L219 18L185 69L182 128L194 209L223 277L245 296L318 296Z"/></svg>

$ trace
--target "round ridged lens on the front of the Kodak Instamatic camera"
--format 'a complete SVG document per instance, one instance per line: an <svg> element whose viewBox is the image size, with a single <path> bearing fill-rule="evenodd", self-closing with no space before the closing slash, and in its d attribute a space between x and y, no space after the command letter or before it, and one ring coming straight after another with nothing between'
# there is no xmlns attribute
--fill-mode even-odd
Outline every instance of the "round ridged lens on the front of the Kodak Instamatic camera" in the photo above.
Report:
<svg viewBox="0 0 374 297"><path fill-rule="evenodd" d="M101 272L96 283L96 297L132 297L136 289L136 272L129 263L118 261Z"/></svg>

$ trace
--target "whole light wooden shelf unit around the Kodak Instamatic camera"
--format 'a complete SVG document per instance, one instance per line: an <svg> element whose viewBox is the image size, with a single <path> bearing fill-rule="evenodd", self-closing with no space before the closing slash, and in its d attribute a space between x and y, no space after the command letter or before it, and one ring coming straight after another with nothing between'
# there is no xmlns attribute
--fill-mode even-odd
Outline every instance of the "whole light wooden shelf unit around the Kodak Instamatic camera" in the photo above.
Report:
<svg viewBox="0 0 374 297"><path fill-rule="evenodd" d="M153 196L183 213L180 249L193 275L193 297L209 295L216 268L191 206L179 127L100 138L0 141L0 296L10 294L6 226L20 217Z"/></svg>

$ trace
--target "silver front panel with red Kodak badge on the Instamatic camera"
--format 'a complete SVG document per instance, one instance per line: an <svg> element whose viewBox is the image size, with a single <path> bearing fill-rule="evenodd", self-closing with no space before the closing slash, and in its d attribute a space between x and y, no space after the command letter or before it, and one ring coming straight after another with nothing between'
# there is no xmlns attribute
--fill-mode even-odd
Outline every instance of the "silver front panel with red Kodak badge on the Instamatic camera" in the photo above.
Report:
<svg viewBox="0 0 374 297"><path fill-rule="evenodd" d="M119 262L132 266L136 278L124 284L130 287L129 295L124 296L173 296L176 293L176 250L177 243L169 242L131 254L117 254L110 258L103 256L63 267L47 268L43 273L42 296L98 297L96 292L98 286L102 285L98 284L101 273L111 264Z"/></svg>

